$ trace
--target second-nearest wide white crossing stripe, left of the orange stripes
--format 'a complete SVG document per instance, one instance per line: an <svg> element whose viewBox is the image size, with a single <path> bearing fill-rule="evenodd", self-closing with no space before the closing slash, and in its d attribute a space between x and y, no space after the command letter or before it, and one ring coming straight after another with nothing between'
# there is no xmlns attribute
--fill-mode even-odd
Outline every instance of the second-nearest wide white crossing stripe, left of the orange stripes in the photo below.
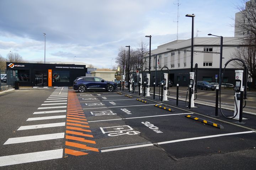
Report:
<svg viewBox="0 0 256 170"><path fill-rule="evenodd" d="M46 135L14 137L14 138L9 138L4 143L4 145L13 144L13 143L24 143L24 142L34 142L34 141L60 139L60 138L64 138L64 134L65 133L56 133L56 134L46 134Z"/></svg>

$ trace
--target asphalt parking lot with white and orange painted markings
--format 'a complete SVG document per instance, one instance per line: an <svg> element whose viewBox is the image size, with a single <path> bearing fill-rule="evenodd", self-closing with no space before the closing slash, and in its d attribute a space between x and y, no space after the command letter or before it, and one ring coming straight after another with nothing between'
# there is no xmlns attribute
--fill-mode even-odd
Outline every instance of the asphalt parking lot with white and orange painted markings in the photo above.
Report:
<svg viewBox="0 0 256 170"><path fill-rule="evenodd" d="M30 97L22 97L25 94ZM209 106L186 109L183 101L176 106L172 99L160 102L158 97L153 100L127 90L78 93L62 87L18 90L0 97L1 110L6 110L0 121L4 129L0 169L252 169L256 165L255 116L250 114L244 114L247 119L239 124L214 117ZM8 110L6 100L14 97L15 105ZM19 103L22 109L17 109ZM209 125L213 123L223 128Z"/></svg>

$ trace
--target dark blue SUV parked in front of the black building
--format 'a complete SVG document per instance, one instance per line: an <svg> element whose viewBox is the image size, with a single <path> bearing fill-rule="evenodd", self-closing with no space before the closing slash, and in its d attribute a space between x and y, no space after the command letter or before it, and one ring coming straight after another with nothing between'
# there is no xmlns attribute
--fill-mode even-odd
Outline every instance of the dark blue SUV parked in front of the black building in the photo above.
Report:
<svg viewBox="0 0 256 170"><path fill-rule="evenodd" d="M73 89L78 90L80 93L86 90L106 90L111 92L117 89L117 84L99 77L78 77L74 80Z"/></svg>

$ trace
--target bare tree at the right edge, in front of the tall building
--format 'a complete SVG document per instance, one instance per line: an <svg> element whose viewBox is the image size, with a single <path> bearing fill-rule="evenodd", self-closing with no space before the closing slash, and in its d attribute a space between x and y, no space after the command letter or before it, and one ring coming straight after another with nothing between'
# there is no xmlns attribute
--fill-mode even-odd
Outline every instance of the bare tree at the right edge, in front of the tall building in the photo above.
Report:
<svg viewBox="0 0 256 170"><path fill-rule="evenodd" d="M240 35L241 46L236 49L234 56L244 61L248 68L248 74L252 78L252 88L256 82L256 2L242 0L245 6L236 6L240 11L236 13L235 35ZM236 66L242 66L235 62Z"/></svg>

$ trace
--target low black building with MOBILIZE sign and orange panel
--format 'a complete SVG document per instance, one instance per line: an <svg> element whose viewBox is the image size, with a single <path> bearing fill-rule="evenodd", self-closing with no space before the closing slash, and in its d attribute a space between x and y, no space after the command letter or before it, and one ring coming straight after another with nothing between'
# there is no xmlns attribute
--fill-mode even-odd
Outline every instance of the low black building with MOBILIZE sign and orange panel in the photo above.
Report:
<svg viewBox="0 0 256 170"><path fill-rule="evenodd" d="M73 86L73 81L85 76L85 65L6 63L7 84L20 86Z"/></svg>

